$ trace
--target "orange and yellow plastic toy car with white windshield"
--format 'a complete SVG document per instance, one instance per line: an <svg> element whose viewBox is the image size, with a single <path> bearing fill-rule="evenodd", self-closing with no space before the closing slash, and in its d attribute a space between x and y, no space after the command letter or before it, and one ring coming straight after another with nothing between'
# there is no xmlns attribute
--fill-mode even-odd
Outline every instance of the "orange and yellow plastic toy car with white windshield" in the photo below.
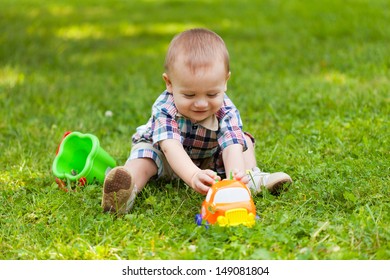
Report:
<svg viewBox="0 0 390 280"><path fill-rule="evenodd" d="M202 203L201 214L195 217L201 225L253 226L256 220L256 207L248 187L236 180L222 180L215 183Z"/></svg>

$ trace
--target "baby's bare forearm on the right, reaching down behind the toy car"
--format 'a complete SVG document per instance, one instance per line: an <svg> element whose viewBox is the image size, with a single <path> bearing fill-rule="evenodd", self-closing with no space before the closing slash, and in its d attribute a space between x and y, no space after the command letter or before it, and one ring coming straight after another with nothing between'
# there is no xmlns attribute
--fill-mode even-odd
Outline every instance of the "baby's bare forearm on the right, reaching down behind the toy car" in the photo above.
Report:
<svg viewBox="0 0 390 280"><path fill-rule="evenodd" d="M222 151L222 159L225 166L226 176L232 172L234 179L249 182L245 172L244 152L241 144L232 144Z"/></svg>

